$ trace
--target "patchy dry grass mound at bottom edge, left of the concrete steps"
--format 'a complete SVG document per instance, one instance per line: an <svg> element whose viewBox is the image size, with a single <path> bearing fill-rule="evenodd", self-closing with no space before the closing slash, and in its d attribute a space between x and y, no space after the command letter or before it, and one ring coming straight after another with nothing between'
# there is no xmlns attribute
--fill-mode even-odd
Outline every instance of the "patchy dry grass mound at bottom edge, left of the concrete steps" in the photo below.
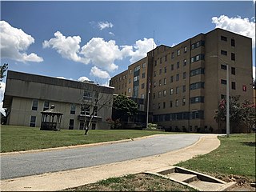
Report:
<svg viewBox="0 0 256 192"><path fill-rule="evenodd" d="M193 191L187 186L151 174L130 174L65 191Z"/></svg>

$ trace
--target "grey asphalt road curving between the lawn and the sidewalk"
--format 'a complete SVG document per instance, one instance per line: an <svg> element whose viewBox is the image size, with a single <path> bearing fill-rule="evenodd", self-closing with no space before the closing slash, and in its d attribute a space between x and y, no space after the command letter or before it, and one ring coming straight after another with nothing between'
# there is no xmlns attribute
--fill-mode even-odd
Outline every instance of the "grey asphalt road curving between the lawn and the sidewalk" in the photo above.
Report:
<svg viewBox="0 0 256 192"><path fill-rule="evenodd" d="M1 179L99 166L163 154L190 146L197 142L200 136L202 134L159 135L103 146L3 155L1 157Z"/></svg>

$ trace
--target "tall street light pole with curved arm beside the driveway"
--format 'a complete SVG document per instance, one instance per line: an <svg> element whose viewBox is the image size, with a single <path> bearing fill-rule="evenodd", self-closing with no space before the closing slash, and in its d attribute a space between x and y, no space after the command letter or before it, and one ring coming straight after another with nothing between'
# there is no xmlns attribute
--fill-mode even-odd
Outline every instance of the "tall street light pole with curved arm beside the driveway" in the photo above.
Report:
<svg viewBox="0 0 256 192"><path fill-rule="evenodd" d="M229 74L229 64L226 63L218 55L212 55L211 58L218 58L226 64L226 137L230 137L230 74Z"/></svg>

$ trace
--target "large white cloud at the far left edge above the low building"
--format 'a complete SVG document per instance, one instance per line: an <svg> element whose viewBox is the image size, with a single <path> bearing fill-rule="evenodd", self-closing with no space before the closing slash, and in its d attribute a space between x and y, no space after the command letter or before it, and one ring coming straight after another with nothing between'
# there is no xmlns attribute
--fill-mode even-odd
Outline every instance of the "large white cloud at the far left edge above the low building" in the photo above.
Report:
<svg viewBox="0 0 256 192"><path fill-rule="evenodd" d="M26 54L28 47L34 43L31 35L23 30L10 26L8 22L0 21L1 57L18 62L42 62L37 54Z"/></svg>

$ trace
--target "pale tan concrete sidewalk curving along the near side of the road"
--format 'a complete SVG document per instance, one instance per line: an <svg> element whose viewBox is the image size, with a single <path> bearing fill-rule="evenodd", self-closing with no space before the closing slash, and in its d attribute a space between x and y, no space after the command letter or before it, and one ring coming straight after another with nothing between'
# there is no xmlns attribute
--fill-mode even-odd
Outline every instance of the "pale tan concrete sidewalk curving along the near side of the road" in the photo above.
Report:
<svg viewBox="0 0 256 192"><path fill-rule="evenodd" d="M172 166L178 162L194 158L199 154L207 154L215 150L220 145L217 136L218 134L202 135L198 142L193 145L166 154L114 162L102 166L1 180L1 191L63 190L98 182L106 178L120 177L125 174L138 174L165 166Z"/></svg>

